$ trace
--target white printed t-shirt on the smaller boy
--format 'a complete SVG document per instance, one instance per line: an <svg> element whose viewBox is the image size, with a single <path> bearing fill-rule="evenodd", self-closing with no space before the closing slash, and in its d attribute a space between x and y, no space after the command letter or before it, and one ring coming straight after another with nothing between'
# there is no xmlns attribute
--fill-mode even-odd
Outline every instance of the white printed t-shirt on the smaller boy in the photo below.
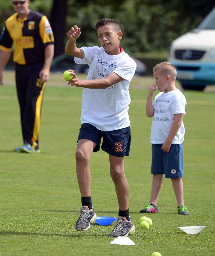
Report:
<svg viewBox="0 0 215 256"><path fill-rule="evenodd" d="M174 120L174 114L185 114L186 98L178 89L171 92L160 92L153 102L155 109L152 120L150 140L152 144L163 144L169 135ZM184 123L182 121L172 144L181 144L184 140Z"/></svg>

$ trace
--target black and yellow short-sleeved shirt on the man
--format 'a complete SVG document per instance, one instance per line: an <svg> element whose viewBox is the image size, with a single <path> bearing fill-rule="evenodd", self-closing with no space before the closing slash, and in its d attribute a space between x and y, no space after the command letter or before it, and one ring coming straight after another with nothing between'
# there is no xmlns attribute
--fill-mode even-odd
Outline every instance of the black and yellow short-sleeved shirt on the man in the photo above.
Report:
<svg viewBox="0 0 215 256"><path fill-rule="evenodd" d="M54 44L52 28L46 16L30 11L24 19L17 13L9 17L0 36L0 50L11 51L14 43L14 62L25 65L44 61L44 48Z"/></svg>

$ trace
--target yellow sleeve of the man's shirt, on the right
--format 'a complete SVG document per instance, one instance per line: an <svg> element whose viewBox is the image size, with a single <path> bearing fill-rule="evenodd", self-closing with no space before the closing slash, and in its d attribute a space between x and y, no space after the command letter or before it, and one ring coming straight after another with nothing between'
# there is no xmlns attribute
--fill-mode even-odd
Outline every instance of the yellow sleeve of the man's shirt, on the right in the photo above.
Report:
<svg viewBox="0 0 215 256"><path fill-rule="evenodd" d="M43 44L54 42L52 28L46 16L43 16L40 20L39 31Z"/></svg>

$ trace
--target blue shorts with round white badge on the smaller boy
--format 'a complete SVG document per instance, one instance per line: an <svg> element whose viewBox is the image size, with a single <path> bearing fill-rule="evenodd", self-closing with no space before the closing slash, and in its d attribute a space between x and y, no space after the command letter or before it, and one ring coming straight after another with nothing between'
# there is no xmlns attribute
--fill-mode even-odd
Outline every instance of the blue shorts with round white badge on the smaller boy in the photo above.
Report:
<svg viewBox="0 0 215 256"><path fill-rule="evenodd" d="M172 144L169 153L164 152L163 144L152 144L152 174L164 174L166 178L184 176L183 143Z"/></svg>

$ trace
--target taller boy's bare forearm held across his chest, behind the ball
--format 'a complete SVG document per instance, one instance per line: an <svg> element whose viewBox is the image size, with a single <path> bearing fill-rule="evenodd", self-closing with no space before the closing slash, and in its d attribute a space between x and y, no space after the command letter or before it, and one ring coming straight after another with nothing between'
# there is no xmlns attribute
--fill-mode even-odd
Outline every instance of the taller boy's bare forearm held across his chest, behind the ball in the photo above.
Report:
<svg viewBox="0 0 215 256"><path fill-rule="evenodd" d="M121 76L117 75L117 73L110 73L106 78L94 79L94 80L79 80L74 70L69 69L69 75L73 75L73 78L69 81L68 84L74 85L76 87L83 87L89 89L106 89L113 84L116 84L122 80Z"/></svg>

